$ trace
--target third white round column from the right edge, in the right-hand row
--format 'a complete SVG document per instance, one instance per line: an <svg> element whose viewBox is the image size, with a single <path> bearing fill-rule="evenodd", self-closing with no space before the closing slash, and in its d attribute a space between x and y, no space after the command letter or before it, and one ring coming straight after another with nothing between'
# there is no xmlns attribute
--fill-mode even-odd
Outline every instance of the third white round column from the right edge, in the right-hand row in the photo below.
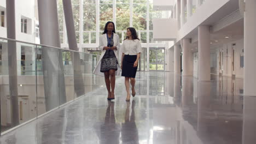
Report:
<svg viewBox="0 0 256 144"><path fill-rule="evenodd" d="M193 67L191 65L191 44L189 39L182 39L182 75L193 76Z"/></svg>

